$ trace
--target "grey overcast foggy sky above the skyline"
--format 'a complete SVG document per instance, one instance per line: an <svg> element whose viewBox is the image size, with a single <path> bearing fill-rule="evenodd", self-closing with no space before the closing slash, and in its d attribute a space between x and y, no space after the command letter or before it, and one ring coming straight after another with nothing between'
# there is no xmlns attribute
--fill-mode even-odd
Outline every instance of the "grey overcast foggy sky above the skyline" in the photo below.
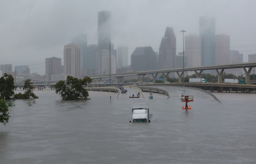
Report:
<svg viewBox="0 0 256 164"><path fill-rule="evenodd" d="M177 53L182 33L199 35L199 17L215 17L216 34L230 35L230 49L256 53L256 0L0 0L0 64L29 65L45 74L45 58L63 59L64 45L87 34L97 44L97 12L111 11L112 43L159 51L173 27ZM63 63L62 63L63 64ZM130 63L129 63L130 64Z"/></svg>

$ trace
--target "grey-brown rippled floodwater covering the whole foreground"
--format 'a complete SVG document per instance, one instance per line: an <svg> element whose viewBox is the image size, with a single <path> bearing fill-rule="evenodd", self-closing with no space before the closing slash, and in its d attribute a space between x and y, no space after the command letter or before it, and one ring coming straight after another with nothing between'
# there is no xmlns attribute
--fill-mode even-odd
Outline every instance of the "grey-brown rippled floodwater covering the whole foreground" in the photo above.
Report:
<svg viewBox="0 0 256 164"><path fill-rule="evenodd" d="M51 90L33 100L13 101L0 124L0 164L255 164L255 93L214 93L161 87L144 92L150 123L130 123L127 93L90 91L91 100L64 101ZM182 110L180 94L194 96ZM111 98L110 98L111 96ZM168 98L168 99L167 99ZM31 102L31 106L28 105ZM111 102L110 102L111 101Z"/></svg>

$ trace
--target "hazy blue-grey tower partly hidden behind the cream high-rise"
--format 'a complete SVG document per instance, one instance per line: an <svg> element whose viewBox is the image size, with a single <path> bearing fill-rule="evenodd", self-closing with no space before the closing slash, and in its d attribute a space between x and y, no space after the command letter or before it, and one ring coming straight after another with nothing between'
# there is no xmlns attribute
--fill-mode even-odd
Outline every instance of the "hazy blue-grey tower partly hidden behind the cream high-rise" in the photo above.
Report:
<svg viewBox="0 0 256 164"><path fill-rule="evenodd" d="M71 40L71 43L78 44L80 47L80 66L83 69L87 69L87 34L80 34Z"/></svg>

